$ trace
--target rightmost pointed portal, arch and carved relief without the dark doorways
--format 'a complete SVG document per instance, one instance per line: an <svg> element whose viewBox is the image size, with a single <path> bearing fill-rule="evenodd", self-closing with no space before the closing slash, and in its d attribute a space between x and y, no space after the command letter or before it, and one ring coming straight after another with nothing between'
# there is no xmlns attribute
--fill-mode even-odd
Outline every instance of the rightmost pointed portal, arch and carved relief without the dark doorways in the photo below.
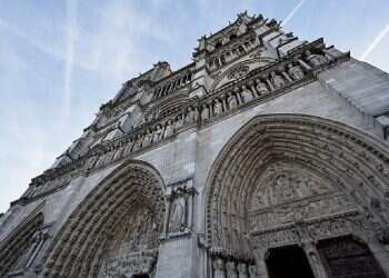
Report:
<svg viewBox="0 0 389 278"><path fill-rule="evenodd" d="M353 128L317 117L253 118L225 146L207 180L211 275L268 277L268 251L297 245L315 276L328 277L319 240L353 235L379 247L375 235L389 221L383 214L386 148ZM369 250L356 261L388 261L380 254Z"/></svg>

